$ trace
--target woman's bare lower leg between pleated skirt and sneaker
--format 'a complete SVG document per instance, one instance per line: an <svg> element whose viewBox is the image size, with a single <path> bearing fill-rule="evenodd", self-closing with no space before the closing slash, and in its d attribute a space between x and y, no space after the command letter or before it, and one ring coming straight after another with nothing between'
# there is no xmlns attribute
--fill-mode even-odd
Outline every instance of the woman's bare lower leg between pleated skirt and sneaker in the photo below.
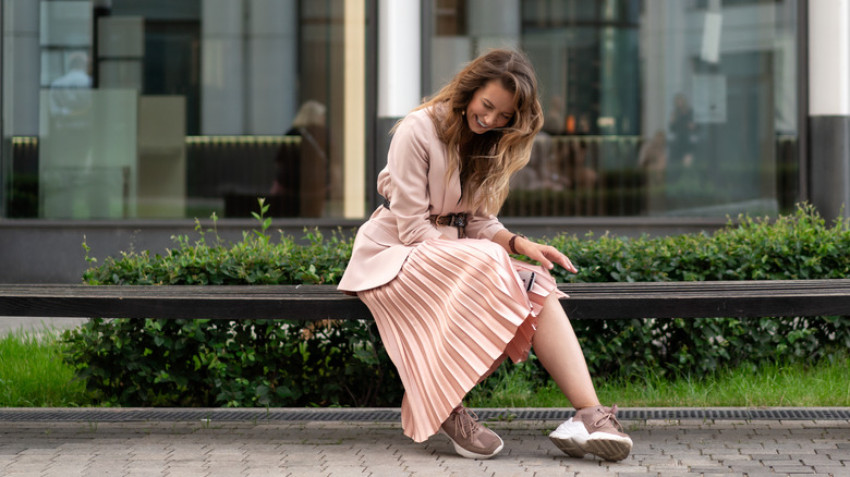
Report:
<svg viewBox="0 0 850 477"><path fill-rule="evenodd" d="M555 293L537 315L534 353L576 409L599 405L575 331Z"/></svg>

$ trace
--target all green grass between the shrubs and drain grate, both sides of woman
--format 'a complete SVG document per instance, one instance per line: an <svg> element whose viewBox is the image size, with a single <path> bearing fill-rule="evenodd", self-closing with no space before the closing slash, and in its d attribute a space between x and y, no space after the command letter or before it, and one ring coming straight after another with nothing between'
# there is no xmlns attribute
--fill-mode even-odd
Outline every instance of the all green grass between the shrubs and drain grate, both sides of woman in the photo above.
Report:
<svg viewBox="0 0 850 477"><path fill-rule="evenodd" d="M62 360L60 331L0 337L0 407L89 406L82 381ZM541 386L522 364L474 389L471 407L569 407L554 382ZM694 378L656 374L596 380L599 400L620 407L850 406L850 354L813 366L773 364L756 371L725 369ZM495 381L494 381L495 380ZM493 381L493 382L490 382Z"/></svg>

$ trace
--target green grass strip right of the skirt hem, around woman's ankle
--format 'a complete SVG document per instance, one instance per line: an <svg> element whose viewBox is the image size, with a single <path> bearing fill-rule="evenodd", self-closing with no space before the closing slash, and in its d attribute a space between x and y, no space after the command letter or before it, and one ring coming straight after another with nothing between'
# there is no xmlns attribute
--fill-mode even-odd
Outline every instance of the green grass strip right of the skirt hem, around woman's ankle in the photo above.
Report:
<svg viewBox="0 0 850 477"><path fill-rule="evenodd" d="M773 364L725 369L711 376L668 379L658 375L597 379L599 401L620 407L845 407L850 406L850 355L815 366ZM496 379L496 377L491 378ZM471 407L569 407L555 383L506 374L493 392L473 390Z"/></svg>

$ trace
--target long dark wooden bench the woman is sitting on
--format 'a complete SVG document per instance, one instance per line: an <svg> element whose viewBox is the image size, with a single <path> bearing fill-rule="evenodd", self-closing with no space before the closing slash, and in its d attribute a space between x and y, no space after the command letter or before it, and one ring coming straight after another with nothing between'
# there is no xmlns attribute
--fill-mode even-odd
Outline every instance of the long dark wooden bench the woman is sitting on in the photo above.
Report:
<svg viewBox="0 0 850 477"><path fill-rule="evenodd" d="M572 319L850 316L850 279L562 283ZM0 284L0 316L372 319L333 285Z"/></svg>

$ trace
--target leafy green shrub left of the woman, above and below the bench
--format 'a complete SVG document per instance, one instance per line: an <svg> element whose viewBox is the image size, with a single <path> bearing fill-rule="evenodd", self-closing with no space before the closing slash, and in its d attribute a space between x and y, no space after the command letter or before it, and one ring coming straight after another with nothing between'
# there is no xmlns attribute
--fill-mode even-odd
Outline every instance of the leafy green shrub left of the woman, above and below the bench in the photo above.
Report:
<svg viewBox="0 0 850 477"><path fill-rule="evenodd" d="M340 233L305 231L306 245L272 243L260 229L226 246L172 237L163 256L124 253L85 271L98 284L216 285L336 283L351 255ZM212 217L216 223L215 215ZM93 319L68 331L66 360L102 404L123 406L381 406L401 384L374 322L300 320Z"/></svg>

